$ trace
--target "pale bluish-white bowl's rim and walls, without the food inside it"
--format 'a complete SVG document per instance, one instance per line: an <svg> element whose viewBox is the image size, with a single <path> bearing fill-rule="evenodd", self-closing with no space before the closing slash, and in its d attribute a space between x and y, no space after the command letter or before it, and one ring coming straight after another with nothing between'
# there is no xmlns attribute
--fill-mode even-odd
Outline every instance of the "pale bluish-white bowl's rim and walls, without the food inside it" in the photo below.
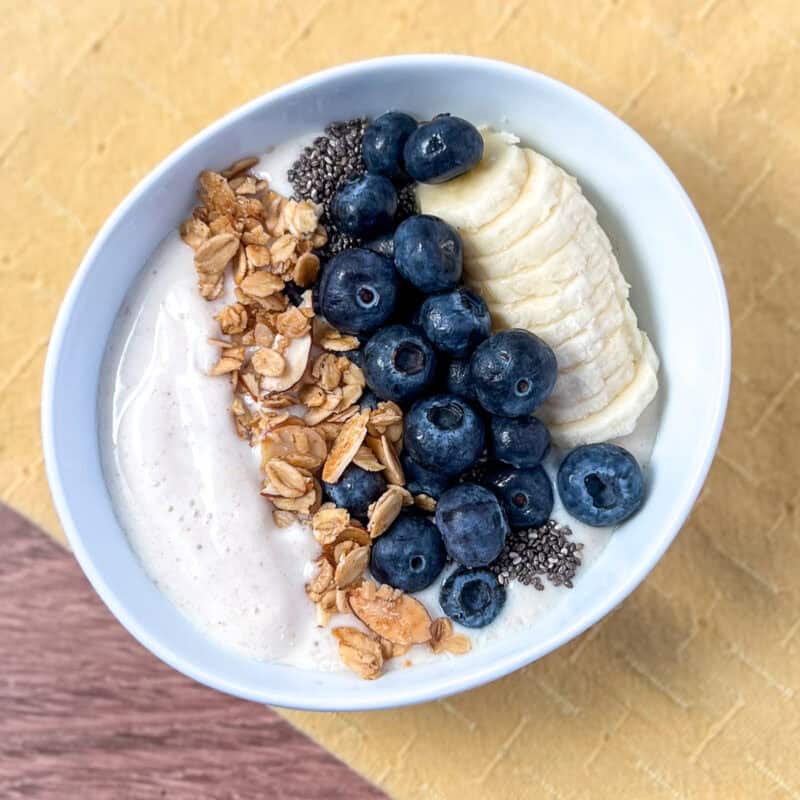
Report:
<svg viewBox="0 0 800 800"><path fill-rule="evenodd" d="M577 175L598 207L642 327L662 359L663 411L642 511L539 624L455 660L365 682L247 661L198 633L144 573L114 516L97 437L100 363L137 273L192 206L202 169L335 119L388 108L441 111L514 131ZM248 103L195 136L150 173L103 226L61 306L45 369L42 426L50 487L84 572L117 619L181 672L239 697L294 708L400 706L464 691L564 644L612 610L678 533L708 472L725 414L730 327L714 250L684 190L624 122L535 72L461 56L350 64Z"/></svg>

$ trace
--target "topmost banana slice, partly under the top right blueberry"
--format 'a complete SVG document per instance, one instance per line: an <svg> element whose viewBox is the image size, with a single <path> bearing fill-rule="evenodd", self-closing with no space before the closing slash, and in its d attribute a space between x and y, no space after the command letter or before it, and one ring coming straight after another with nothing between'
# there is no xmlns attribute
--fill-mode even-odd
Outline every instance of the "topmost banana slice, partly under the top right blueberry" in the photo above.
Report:
<svg viewBox="0 0 800 800"><path fill-rule="evenodd" d="M417 202L462 231L476 230L508 209L528 179L525 152L507 133L482 131L483 159L477 167L452 181L420 183Z"/></svg>

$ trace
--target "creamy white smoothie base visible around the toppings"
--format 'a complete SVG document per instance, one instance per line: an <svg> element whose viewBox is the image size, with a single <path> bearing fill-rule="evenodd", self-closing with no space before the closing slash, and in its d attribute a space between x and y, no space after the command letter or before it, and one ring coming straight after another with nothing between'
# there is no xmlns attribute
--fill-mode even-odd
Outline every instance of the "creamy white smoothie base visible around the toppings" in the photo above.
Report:
<svg viewBox="0 0 800 800"><path fill-rule="evenodd" d="M290 196L287 169L313 138L309 134L274 148L253 166L253 173ZM543 158L533 151L513 149L529 166ZM503 155L502 148L497 152L511 158ZM559 180L574 181L565 173ZM536 206L520 195L525 181L520 178L517 183L508 191L516 191L516 197ZM546 203L548 192L555 194L558 189L537 191ZM512 201L504 202L511 207ZM422 198L425 211L428 202ZM587 215L592 216L588 202L586 206L591 210ZM433 213L446 218L444 204ZM530 213L541 212L533 209ZM473 230L480 229L478 217L467 222ZM505 223L498 218L492 224L500 229ZM480 291L481 281L491 284L494 278L469 272L473 259L484 263L473 255L481 246L479 235L475 242L465 237L466 277ZM613 259L610 247L606 263L609 256ZM597 281L605 279L601 276ZM615 296L622 298L624 291L626 298L620 280L621 276L612 281ZM503 306L498 303L505 295L502 278L498 281L500 294L487 300L493 313L499 311L503 319ZM175 232L157 248L128 294L109 343L99 396L100 448L109 491L120 524L148 575L209 638L248 658L303 669L342 669L330 629L339 625L367 628L352 614L335 610L327 627L320 624L306 590L318 570L320 545L307 523L276 525L270 504L260 494L261 449L248 446L236 435L229 412L230 382L222 376L209 377L220 360L219 346L209 343L219 337L214 317L236 300L230 280L223 288L214 300L201 297L192 250ZM516 318L513 322L520 324ZM644 405L647 408L631 426L632 432L614 440L643 466L657 431L658 399ZM551 478L562 456L558 449L548 456L545 469ZM568 526L572 540L583 544L576 578L580 580L581 571L590 568L613 534L573 519L557 493L552 518ZM439 616L439 587L452 569L446 567L432 586L413 595L432 618ZM469 631L456 625L455 631L468 634L472 647L481 647L529 626L561 602L567 591L549 584L545 591L537 591L512 582L494 623ZM449 656L434 655L431 647L416 645L401 658L388 660L385 668L437 657Z"/></svg>

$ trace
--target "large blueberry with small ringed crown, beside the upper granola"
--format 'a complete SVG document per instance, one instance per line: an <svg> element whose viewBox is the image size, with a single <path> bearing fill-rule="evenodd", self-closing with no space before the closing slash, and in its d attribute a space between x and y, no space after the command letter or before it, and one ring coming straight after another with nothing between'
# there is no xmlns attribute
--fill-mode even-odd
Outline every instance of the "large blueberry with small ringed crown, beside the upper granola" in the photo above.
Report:
<svg viewBox="0 0 800 800"><path fill-rule="evenodd" d="M399 279L388 258L370 250L343 250L325 266L317 286L319 310L345 333L366 333L394 313Z"/></svg>

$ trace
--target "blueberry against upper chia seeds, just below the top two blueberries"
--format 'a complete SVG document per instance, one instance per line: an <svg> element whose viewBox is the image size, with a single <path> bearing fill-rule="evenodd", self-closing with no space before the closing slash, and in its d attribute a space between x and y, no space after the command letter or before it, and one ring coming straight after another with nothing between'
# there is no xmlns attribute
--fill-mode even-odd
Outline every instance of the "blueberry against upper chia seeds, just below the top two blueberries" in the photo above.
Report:
<svg viewBox="0 0 800 800"><path fill-rule="evenodd" d="M382 175L362 175L342 184L331 201L336 227L351 236L369 237L392 227L397 192Z"/></svg>

